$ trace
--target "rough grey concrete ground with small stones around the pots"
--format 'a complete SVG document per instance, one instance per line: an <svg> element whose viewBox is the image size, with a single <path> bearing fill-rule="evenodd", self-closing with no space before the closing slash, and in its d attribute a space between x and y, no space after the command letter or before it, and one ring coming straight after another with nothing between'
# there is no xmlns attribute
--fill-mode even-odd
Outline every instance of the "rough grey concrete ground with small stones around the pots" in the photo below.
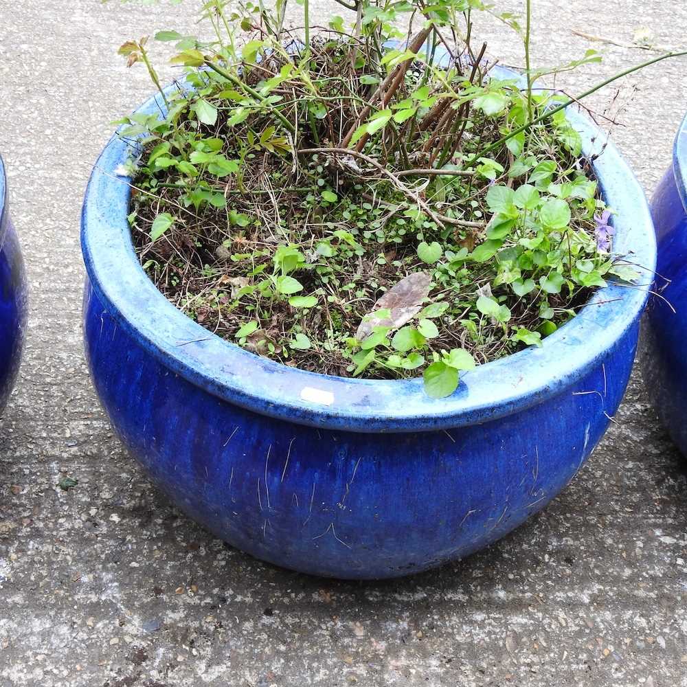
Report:
<svg viewBox="0 0 687 687"><path fill-rule="evenodd" d="M82 356L80 203L109 122L151 91L115 49L190 28L183 12L197 4L0 0L0 150L32 297L0 425L0 685L687 685L687 469L637 374L616 424L545 512L401 581L322 581L255 561L183 517L124 453ZM534 5L538 63L605 53L565 80L577 92L654 53L575 31L687 41L677 0ZM337 7L321 1L311 16ZM520 63L505 30L486 34L491 54ZM647 192L686 109L686 66L625 79L613 106L616 142ZM65 475L78 478L67 492Z"/></svg>

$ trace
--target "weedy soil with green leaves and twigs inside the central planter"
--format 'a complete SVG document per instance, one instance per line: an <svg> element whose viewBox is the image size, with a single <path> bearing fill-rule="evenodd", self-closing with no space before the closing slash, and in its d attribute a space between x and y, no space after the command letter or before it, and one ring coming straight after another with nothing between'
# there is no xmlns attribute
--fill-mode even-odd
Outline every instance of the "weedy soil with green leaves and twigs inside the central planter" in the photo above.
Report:
<svg viewBox="0 0 687 687"><path fill-rule="evenodd" d="M515 80L487 83L484 61L457 60L453 92L470 97L454 108L421 65L401 63L374 109L385 121L356 140L387 75L348 51L314 41L315 91L289 76L297 57L243 65L251 88L278 82L269 93L289 100L295 133L213 71L194 72L198 91L172 98L163 124L126 120L124 135L148 132L132 172L135 248L181 311L286 365L385 379L450 351L484 363L540 345L609 273L631 278L609 255L608 215L562 113L482 155L523 120Z"/></svg>

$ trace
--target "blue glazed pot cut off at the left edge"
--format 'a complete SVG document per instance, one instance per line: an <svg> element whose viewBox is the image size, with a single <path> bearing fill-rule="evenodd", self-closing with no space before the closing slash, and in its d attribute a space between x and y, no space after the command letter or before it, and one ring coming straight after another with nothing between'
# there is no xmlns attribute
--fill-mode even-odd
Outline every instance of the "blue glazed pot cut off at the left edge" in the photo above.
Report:
<svg viewBox="0 0 687 687"><path fill-rule="evenodd" d="M0 158L0 414L19 370L25 322L24 263L10 221L7 180Z"/></svg>

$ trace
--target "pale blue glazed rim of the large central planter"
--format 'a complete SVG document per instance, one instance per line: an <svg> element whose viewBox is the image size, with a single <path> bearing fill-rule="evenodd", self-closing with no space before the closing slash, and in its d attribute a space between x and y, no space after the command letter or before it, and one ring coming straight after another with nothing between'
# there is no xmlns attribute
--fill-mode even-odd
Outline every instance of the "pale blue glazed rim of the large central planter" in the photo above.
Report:
<svg viewBox="0 0 687 687"><path fill-rule="evenodd" d="M137 111L157 113L162 106L155 95ZM567 109L567 117L581 134L583 155L598 156L594 170L616 211L613 248L638 265L638 287L609 282L544 339L542 348L478 366L462 375L447 398L429 398L421 378L348 379L291 368L221 339L177 310L135 255L127 221L131 190L128 178L118 176L135 148L116 134L93 168L82 208L82 252L91 288L118 326L174 374L259 414L379 432L450 429L519 412L561 393L602 362L637 321L655 268L653 223L642 187L605 133L574 109Z"/></svg>

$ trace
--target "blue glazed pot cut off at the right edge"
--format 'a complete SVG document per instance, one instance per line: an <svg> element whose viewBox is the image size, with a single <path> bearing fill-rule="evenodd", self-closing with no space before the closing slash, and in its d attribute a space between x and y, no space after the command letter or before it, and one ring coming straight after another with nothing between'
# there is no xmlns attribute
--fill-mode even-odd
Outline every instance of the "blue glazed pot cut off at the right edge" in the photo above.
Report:
<svg viewBox="0 0 687 687"><path fill-rule="evenodd" d="M642 373L656 411L687 455L687 117L651 199L658 258L644 317Z"/></svg>

